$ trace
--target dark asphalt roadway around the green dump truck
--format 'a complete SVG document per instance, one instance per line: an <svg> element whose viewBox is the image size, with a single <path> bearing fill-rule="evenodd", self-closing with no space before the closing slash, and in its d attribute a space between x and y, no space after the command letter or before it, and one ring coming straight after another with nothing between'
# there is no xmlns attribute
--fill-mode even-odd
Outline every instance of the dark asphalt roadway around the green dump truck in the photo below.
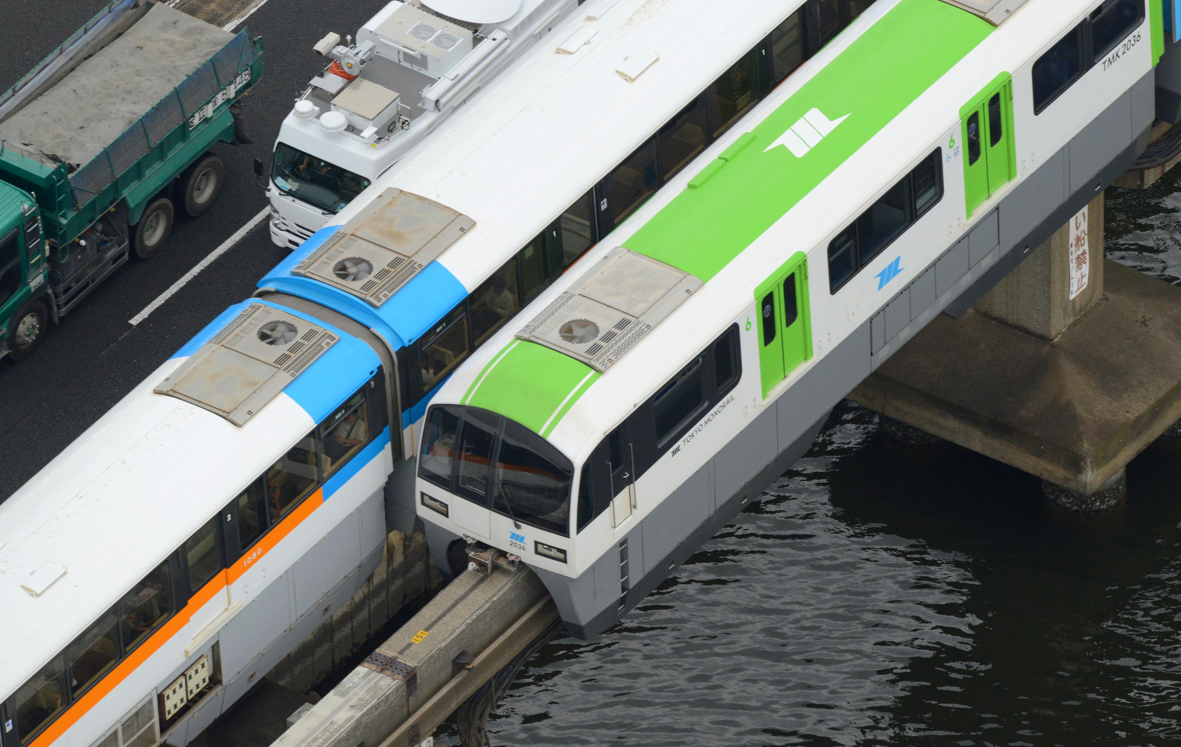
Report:
<svg viewBox="0 0 1181 747"><path fill-rule="evenodd" d="M237 1L249 5L248 0ZM200 2L224 6L227 0L188 0L183 7L194 13ZM104 0L40 0L35 5L0 0L0 91L105 5ZM384 5L384 0L267 0L247 19L250 33L266 40L262 81L243 103L255 144L218 145L215 151L226 160L227 181L209 212L196 219L178 217L161 254L124 264L61 325L48 330L31 359L20 363L0 360L0 500L216 314L249 296L255 282L286 256L270 243L266 223L261 223L145 321L136 327L128 323L266 207L252 163L255 157L269 163L280 123L307 81L322 68L325 60L312 52L312 45L329 31L355 34Z"/></svg>

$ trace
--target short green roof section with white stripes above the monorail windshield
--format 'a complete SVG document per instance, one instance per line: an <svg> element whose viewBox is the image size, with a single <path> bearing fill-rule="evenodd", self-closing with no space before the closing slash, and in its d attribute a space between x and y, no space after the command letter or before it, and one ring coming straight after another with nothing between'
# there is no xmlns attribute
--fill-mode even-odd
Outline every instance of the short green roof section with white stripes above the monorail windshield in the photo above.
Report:
<svg viewBox="0 0 1181 747"><path fill-rule="evenodd" d="M514 340L479 372L462 401L546 437L599 375L557 350Z"/></svg>

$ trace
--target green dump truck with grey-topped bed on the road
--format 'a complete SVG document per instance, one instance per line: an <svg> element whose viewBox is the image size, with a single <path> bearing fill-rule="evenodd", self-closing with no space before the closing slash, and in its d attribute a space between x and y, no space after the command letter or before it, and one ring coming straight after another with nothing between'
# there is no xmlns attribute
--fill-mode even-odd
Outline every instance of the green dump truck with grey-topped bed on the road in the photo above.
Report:
<svg viewBox="0 0 1181 747"><path fill-rule="evenodd" d="M115 0L0 96L0 358L209 209L209 149L244 140L235 103L261 76L247 31Z"/></svg>

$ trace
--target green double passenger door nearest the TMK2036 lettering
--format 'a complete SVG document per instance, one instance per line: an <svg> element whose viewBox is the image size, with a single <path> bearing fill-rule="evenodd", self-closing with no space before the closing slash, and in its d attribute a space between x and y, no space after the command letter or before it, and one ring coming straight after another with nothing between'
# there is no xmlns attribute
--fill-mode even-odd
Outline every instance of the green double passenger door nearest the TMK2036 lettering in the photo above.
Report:
<svg viewBox="0 0 1181 747"><path fill-rule="evenodd" d="M993 80L960 110L964 137L964 190L967 215L1013 178L1013 84L1009 73Z"/></svg>

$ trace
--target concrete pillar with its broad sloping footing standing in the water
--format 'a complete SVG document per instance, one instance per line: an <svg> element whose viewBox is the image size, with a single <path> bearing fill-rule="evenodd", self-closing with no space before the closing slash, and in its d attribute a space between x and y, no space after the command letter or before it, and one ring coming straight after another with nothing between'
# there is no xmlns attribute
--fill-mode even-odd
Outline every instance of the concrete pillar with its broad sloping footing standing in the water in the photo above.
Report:
<svg viewBox="0 0 1181 747"><path fill-rule="evenodd" d="M1105 262L1103 212L1101 195L849 399L905 424L882 420L894 440L931 434L1042 478L1065 509L1118 503L1128 463L1181 434L1181 288Z"/></svg>

